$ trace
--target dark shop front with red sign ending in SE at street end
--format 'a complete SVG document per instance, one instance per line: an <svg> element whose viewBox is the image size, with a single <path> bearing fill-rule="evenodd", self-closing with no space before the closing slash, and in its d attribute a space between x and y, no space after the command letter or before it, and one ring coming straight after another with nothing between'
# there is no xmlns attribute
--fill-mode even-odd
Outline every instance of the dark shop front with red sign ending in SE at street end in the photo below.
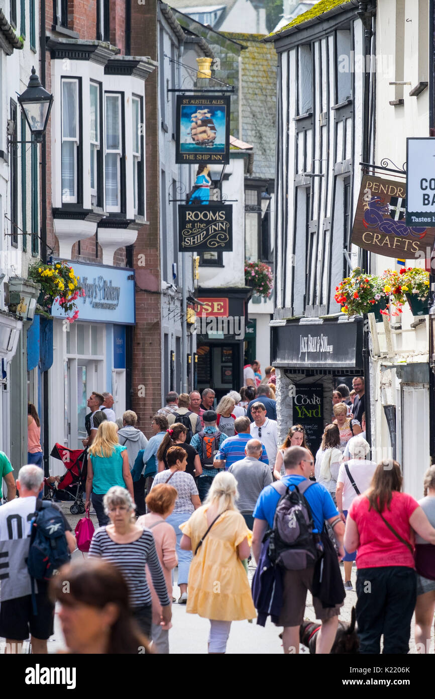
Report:
<svg viewBox="0 0 435 699"><path fill-rule="evenodd" d="M249 289L199 289L196 307L196 390L212 388L217 401L243 385Z"/></svg>

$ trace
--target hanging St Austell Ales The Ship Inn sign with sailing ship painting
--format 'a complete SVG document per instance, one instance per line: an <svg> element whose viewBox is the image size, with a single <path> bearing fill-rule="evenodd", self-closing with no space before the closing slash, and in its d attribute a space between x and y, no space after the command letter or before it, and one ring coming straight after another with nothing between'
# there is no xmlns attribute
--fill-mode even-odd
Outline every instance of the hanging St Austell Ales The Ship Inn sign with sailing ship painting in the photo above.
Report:
<svg viewBox="0 0 435 699"><path fill-rule="evenodd" d="M229 157L230 98L177 96L176 162L225 164Z"/></svg>

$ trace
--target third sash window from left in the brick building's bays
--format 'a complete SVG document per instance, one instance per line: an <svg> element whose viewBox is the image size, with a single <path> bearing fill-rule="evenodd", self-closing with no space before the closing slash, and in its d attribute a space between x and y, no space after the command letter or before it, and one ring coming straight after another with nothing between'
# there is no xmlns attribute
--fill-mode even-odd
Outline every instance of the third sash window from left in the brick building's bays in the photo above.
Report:
<svg viewBox="0 0 435 699"><path fill-rule="evenodd" d="M121 94L105 93L105 207L121 211Z"/></svg>

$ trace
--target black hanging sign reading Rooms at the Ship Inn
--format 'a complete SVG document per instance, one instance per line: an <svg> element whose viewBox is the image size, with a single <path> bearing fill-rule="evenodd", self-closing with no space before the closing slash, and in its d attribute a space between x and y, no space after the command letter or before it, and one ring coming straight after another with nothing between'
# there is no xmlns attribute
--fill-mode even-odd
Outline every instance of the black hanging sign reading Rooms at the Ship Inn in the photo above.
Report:
<svg viewBox="0 0 435 699"><path fill-rule="evenodd" d="M179 252L232 252L233 206L202 204L178 206Z"/></svg>

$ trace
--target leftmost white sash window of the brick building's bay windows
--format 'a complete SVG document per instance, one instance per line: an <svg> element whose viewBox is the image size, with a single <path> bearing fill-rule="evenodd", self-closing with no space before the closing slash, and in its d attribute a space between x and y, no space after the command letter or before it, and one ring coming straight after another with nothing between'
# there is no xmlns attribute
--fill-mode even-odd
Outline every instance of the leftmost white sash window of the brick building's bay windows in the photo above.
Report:
<svg viewBox="0 0 435 699"><path fill-rule="evenodd" d="M61 89L62 113L62 202L78 202L79 169L79 81L77 78L63 78Z"/></svg>

